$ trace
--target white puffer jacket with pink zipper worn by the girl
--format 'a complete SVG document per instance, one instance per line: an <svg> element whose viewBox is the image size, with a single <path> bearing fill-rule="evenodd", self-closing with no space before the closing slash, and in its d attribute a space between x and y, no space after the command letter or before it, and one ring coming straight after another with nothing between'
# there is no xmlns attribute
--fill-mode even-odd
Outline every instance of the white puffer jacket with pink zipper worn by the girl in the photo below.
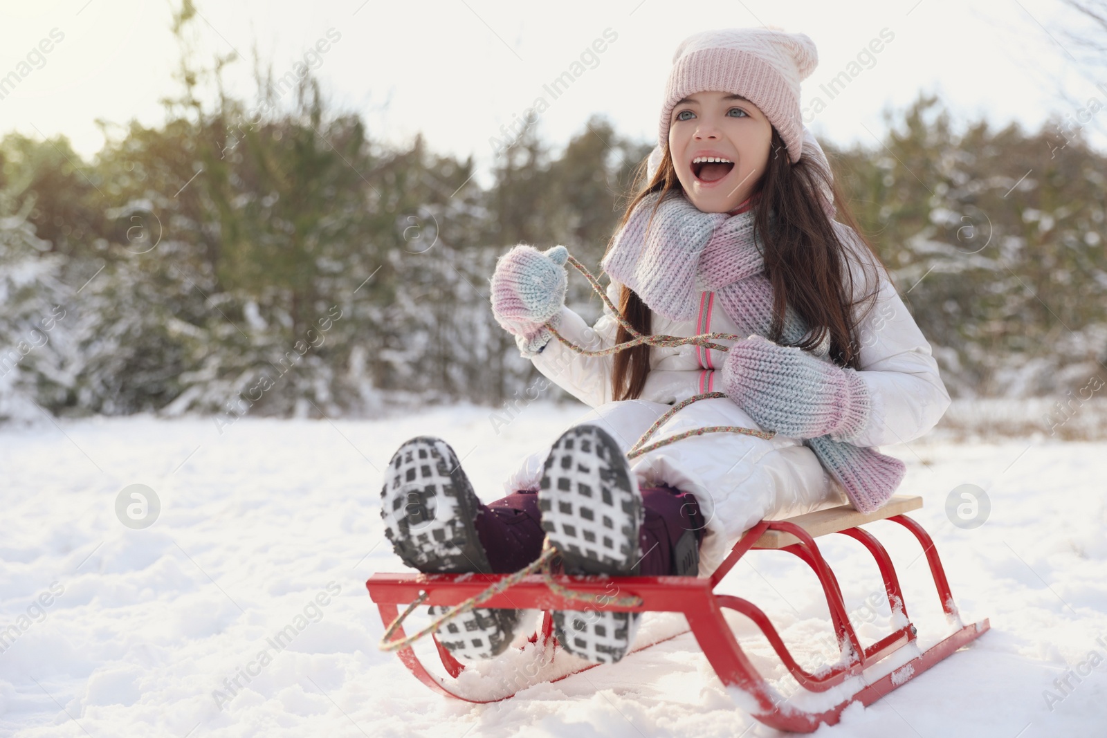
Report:
<svg viewBox="0 0 1107 738"><path fill-rule="evenodd" d="M911 441L938 423L950 396L930 344L896 289L882 271L872 268L876 264L853 230L835 226L852 247L849 267L855 299L871 291L873 277L879 284L877 301L858 326L859 375L869 389L871 412L853 443L875 447ZM862 259L870 264L868 279ZM612 282L607 289L617 305L620 288ZM568 306L561 312L559 332L566 339L592 350L614 345L618 322L607 308L591 328ZM738 332L711 292L701 295L696 321L671 321L658 313L652 313L651 320L655 335ZM555 339L530 358L551 382L596 408L580 423L603 425L625 451L674 403L702 392L721 392L714 370L725 357L722 352L694 345L651 347L650 373L640 398L623 402L611 399L612 355L582 356ZM730 399L705 399L676 413L651 440L703 425L758 428ZM506 488L535 488L548 449L547 445L524 460ZM845 501L839 486L823 471L810 449L799 439L779 435L772 440L723 433L695 436L639 456L631 468L641 486L664 482L696 496L708 520L701 573L714 570L741 533L762 518L778 519Z"/></svg>

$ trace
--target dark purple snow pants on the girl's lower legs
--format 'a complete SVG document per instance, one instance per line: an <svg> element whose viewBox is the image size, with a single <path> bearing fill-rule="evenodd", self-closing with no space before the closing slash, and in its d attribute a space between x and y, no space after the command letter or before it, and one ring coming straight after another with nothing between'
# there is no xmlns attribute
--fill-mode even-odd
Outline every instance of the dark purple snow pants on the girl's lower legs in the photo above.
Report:
<svg viewBox="0 0 1107 738"><path fill-rule="evenodd" d="M705 522L695 498L672 487L649 487L642 490L642 503L645 520L639 530L642 559L637 573L641 576L683 573L677 558L687 555L685 549L691 540L685 531L692 531L695 547L704 536ZM493 573L516 572L542 551L546 533L538 511L538 493L534 490L482 505L475 523Z"/></svg>

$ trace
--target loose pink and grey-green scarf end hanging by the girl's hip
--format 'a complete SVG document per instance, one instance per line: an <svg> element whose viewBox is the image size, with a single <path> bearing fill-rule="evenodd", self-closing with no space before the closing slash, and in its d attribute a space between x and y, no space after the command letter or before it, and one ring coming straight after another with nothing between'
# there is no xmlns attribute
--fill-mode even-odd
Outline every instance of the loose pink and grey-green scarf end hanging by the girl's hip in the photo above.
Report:
<svg viewBox="0 0 1107 738"><path fill-rule="evenodd" d="M880 509L903 481L907 466L875 448L860 448L829 436L811 438L807 446L845 488L846 497L861 512Z"/></svg>

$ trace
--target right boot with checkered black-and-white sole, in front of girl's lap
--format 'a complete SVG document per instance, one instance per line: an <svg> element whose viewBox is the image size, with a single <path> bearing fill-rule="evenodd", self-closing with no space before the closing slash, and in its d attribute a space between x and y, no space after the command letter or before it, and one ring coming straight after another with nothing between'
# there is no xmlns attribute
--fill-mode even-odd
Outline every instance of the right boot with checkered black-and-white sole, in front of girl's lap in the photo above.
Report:
<svg viewBox="0 0 1107 738"><path fill-rule="evenodd" d="M538 489L542 530L561 552L566 574L630 574L641 558L639 529L644 508L627 457L594 425L561 435L546 458ZM558 643L593 663L622 658L638 631L640 613L556 611Z"/></svg>

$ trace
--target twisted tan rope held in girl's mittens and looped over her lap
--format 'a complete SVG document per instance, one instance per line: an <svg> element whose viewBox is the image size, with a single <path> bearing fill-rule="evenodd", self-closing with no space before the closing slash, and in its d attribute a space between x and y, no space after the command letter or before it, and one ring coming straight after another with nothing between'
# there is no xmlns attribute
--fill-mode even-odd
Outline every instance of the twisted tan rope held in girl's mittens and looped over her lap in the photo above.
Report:
<svg viewBox="0 0 1107 738"><path fill-rule="evenodd" d="M582 354L584 356L606 356L608 354L614 354L620 351L625 351L627 349L630 349L632 346L638 346L643 343L651 346L663 346L663 347L694 344L697 346L714 349L715 351L721 351L725 353L730 351L730 346L724 346L718 343L712 343L712 339L715 340L722 339L726 341L742 341L742 336L736 335L734 333L703 333L701 335L693 335L685 339L675 335L643 335L642 333L639 333L637 330L634 330L634 326L630 324L630 321L627 320L627 318L621 312L619 312L619 309L615 308L614 304L611 302L611 299L608 298L607 293L603 291L603 288L600 287L600 283L596 279L596 277L593 277L592 273L588 271L588 267L578 261L577 258L573 257L572 254L569 254L568 261L577 269L577 271L579 271L581 274L584 276L584 279L588 280L588 283L592 285L592 290L600 295L601 300L603 300L603 304L606 304L608 309L614 314L615 320L619 321L619 324L622 325L624 329L627 329L627 331L632 336L634 336L630 341L624 341L623 343L615 344L610 349L600 349L598 351L590 351L582 346L578 346L572 341L569 341L563 335L558 333L552 325L546 323L546 328L549 329L550 333L554 334L554 337L556 337L558 341L560 341L565 345L576 351L578 354ZM677 440L683 440L684 438L690 438L692 436L702 436L706 433L738 433L745 436L764 438L765 440L768 440L776 435L775 430L754 430L753 428L743 428L742 426L734 426L734 425L712 425L712 426L704 426L702 428L694 428L692 430L684 430L674 436L670 436L669 438L662 438L661 440L654 441L650 445L645 445L645 440L650 436L652 436L658 428L664 425L664 423L669 420L669 418L675 415L677 410L687 407L694 402L701 399L713 399L715 397L726 397L726 393L704 392L699 395L692 395L687 399L683 399L676 405L674 405L671 409L666 410L664 415L658 418L658 422L654 423L652 426L650 426L650 429L643 433L642 437L639 438L633 446L631 446L630 450L627 451L627 458L633 459L635 457L641 456L642 454L649 454L650 451L656 448L661 448L662 446L668 446L669 444L673 444L676 443Z"/></svg>

